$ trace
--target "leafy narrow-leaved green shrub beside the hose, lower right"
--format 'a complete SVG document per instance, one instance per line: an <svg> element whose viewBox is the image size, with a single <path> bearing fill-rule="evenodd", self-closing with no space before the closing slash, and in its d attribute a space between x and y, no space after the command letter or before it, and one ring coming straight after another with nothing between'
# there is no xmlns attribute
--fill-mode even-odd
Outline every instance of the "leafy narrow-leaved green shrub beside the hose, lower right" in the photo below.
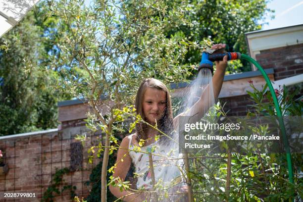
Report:
<svg viewBox="0 0 303 202"><path fill-rule="evenodd" d="M248 92L250 100L253 101L252 111L247 116L276 117L272 95L264 85L258 90L252 80L248 80L253 92ZM278 99L283 116L302 116L303 97L300 92L302 86L285 87L275 89L275 96ZM215 106L216 113L227 116L222 111L220 104ZM242 120L242 125L248 123ZM251 125L254 130L261 130L258 125ZM263 128L264 129L264 128ZM240 135L240 134L237 134ZM223 145L231 147L233 145ZM213 156L203 155L203 158L190 160L190 175L193 187L194 198L199 202L208 201L246 201L246 202L269 202L269 201L292 201L299 200L303 196L302 154L292 153L292 164L294 183L288 180L288 168L285 153L263 153L260 150L245 151L244 154L230 152L230 166L228 166L228 152ZM228 170L231 177L228 181Z"/></svg>

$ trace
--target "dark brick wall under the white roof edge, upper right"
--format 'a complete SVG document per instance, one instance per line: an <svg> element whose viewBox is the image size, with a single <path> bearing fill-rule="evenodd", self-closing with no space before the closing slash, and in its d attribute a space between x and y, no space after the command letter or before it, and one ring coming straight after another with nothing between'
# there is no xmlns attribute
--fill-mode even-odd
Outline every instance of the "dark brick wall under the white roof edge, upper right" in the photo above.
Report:
<svg viewBox="0 0 303 202"><path fill-rule="evenodd" d="M303 44L261 50L256 60L264 68L274 68L275 80L303 73Z"/></svg>

